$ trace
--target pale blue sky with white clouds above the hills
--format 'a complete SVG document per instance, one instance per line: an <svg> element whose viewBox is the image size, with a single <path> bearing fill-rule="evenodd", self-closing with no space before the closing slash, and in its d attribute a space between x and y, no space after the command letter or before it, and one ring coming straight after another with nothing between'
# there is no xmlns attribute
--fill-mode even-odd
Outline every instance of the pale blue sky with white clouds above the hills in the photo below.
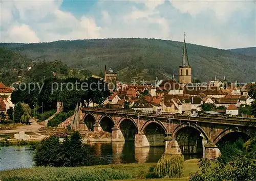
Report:
<svg viewBox="0 0 256 181"><path fill-rule="evenodd" d="M222 49L256 46L256 3L1 0L1 42L156 38Z"/></svg>

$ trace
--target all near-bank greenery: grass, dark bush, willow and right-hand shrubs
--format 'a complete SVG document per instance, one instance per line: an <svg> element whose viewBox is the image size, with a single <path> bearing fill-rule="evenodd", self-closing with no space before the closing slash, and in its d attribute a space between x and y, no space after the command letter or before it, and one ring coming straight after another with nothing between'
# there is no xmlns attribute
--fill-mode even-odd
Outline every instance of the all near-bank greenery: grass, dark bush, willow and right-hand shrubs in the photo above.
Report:
<svg viewBox="0 0 256 181"><path fill-rule="evenodd" d="M98 165L87 157L88 145L78 132L59 142L57 136L42 140L36 147L37 167L0 171L1 180L255 180L256 138L220 145L218 159L183 161L182 156L163 154L158 163ZM43 167L42 167L43 166ZM80 166L80 167L77 167ZM86 166L86 167L84 167ZM72 167L72 168L68 168Z"/></svg>

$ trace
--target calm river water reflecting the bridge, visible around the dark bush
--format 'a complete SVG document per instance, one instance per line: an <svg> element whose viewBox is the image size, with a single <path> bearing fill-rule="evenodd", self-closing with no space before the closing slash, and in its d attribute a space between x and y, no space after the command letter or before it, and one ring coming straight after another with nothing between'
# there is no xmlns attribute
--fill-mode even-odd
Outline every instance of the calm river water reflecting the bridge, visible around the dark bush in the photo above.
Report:
<svg viewBox="0 0 256 181"><path fill-rule="evenodd" d="M90 157L95 164L154 163L157 162L164 147L135 148L134 142L90 143ZM33 167L34 150L30 146L4 146L0 150L0 170ZM185 160L199 158L184 155Z"/></svg>

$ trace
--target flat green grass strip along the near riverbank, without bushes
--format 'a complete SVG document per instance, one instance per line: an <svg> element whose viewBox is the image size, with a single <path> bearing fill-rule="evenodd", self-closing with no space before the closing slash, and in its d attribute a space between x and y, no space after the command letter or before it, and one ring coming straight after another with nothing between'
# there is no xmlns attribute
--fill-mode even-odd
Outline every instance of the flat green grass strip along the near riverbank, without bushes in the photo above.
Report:
<svg viewBox="0 0 256 181"><path fill-rule="evenodd" d="M187 160L184 162L182 178L168 179L187 181L189 175L198 170L198 160ZM118 164L99 165L88 167L33 167L0 171L0 180L145 180L150 173L150 168L155 163L146 164ZM154 179L166 180L166 179Z"/></svg>

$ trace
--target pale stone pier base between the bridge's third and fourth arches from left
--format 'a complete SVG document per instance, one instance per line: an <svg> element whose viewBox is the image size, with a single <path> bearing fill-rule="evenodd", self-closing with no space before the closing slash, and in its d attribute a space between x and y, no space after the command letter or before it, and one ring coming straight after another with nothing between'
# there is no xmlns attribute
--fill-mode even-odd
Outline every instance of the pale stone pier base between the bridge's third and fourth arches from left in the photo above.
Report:
<svg viewBox="0 0 256 181"><path fill-rule="evenodd" d="M154 147L154 146L164 146L165 135L135 135L135 147Z"/></svg>

